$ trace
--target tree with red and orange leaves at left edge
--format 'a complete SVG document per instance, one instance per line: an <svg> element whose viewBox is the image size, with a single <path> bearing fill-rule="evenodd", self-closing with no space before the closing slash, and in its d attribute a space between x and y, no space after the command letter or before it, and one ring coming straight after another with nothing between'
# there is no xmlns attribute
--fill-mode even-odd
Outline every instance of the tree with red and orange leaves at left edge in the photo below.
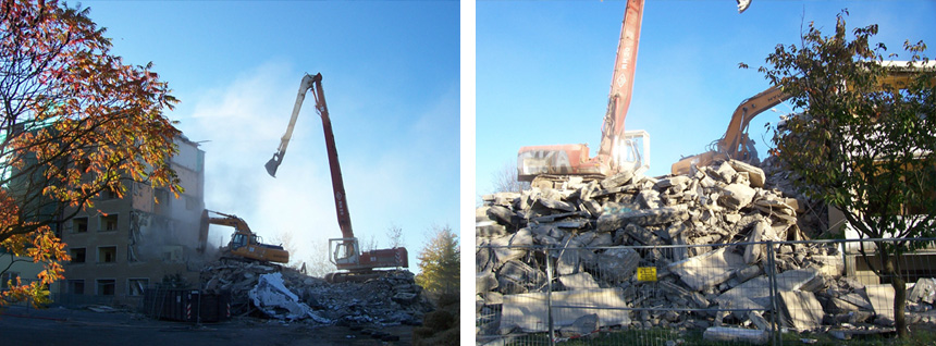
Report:
<svg viewBox="0 0 936 346"><path fill-rule="evenodd" d="M0 0L0 271L27 258L37 280L7 299L47 301L69 260L56 226L127 180L176 196L169 165L180 132L163 111L176 100L146 66L110 52L88 9Z"/></svg>

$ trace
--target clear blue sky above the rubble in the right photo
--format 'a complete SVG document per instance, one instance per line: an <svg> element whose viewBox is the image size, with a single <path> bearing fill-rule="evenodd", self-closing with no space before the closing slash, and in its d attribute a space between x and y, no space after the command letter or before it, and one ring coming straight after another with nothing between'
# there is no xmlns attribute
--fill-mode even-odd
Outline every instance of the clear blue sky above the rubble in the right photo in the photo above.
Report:
<svg viewBox="0 0 936 346"><path fill-rule="evenodd" d="M522 146L587 143L598 151L624 9L624 1L477 2L476 194L493 190L492 176L516 164ZM936 1L753 0L742 14L732 0L646 1L625 126L650 133L648 174L705 151L738 103L769 87L758 72L767 54L799 44L809 22L832 34L842 9L849 28L878 24L873 41L888 52L907 57L904 40L923 40L936 57ZM778 116L764 112L750 124L761 158L764 125Z"/></svg>

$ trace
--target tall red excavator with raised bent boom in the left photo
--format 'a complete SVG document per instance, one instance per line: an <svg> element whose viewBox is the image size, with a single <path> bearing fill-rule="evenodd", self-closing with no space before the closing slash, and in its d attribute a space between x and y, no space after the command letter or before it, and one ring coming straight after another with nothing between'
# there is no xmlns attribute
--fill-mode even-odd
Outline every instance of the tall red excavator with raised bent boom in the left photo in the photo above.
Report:
<svg viewBox="0 0 936 346"><path fill-rule="evenodd" d="M371 277L382 276L383 271L378 269L407 268L409 267L406 248L396 247L392 249L375 249L361 251L358 239L352 230L350 214L348 213L347 200L345 199L345 186L342 180L342 169L338 164L338 152L335 148L335 137L332 133L332 122L329 119L329 108L325 104L325 95L322 90L322 74L303 77L299 83L299 91L296 103L293 106L293 115L286 127L286 133L280 140L280 147L273 153L273 158L267 162L267 173L276 177L276 170L286 155L286 147L293 136L296 119L306 99L306 92L312 91L316 99L316 112L322 119L322 128L325 133L325 148L329 156L329 165L332 175L332 189L335 197L335 212L337 213L338 227L342 231L341 238L329 239L329 260L335 264L340 272L325 275L331 283L344 281L362 281Z"/></svg>

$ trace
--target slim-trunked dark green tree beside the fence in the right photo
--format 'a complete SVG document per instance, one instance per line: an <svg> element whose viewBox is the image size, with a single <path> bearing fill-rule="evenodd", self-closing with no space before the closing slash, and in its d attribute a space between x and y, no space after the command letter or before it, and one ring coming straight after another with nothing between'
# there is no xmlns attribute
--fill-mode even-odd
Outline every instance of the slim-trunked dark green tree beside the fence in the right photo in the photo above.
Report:
<svg viewBox="0 0 936 346"><path fill-rule="evenodd" d="M901 257L923 246L906 238L936 235L936 75L922 41L906 42L906 57L887 53L869 42L877 25L849 35L847 14L832 36L810 23L800 46L777 46L760 71L802 112L775 136L802 191L841 210L862 237L896 238L877 243L873 257L863 247L861 254L894 287L895 322L906 337ZM885 61L895 58L907 61Z"/></svg>

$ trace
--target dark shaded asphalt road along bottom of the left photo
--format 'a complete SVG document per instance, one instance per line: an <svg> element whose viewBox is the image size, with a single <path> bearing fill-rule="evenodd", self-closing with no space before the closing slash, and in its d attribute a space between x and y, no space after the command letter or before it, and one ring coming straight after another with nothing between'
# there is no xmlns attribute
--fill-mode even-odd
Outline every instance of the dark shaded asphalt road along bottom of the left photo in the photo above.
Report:
<svg viewBox="0 0 936 346"><path fill-rule="evenodd" d="M368 330L399 336L382 342ZM317 325L312 322L285 323L256 318L235 318L220 323L158 321L131 312L94 312L64 308L0 308L0 344L46 345L410 345L411 326Z"/></svg>

